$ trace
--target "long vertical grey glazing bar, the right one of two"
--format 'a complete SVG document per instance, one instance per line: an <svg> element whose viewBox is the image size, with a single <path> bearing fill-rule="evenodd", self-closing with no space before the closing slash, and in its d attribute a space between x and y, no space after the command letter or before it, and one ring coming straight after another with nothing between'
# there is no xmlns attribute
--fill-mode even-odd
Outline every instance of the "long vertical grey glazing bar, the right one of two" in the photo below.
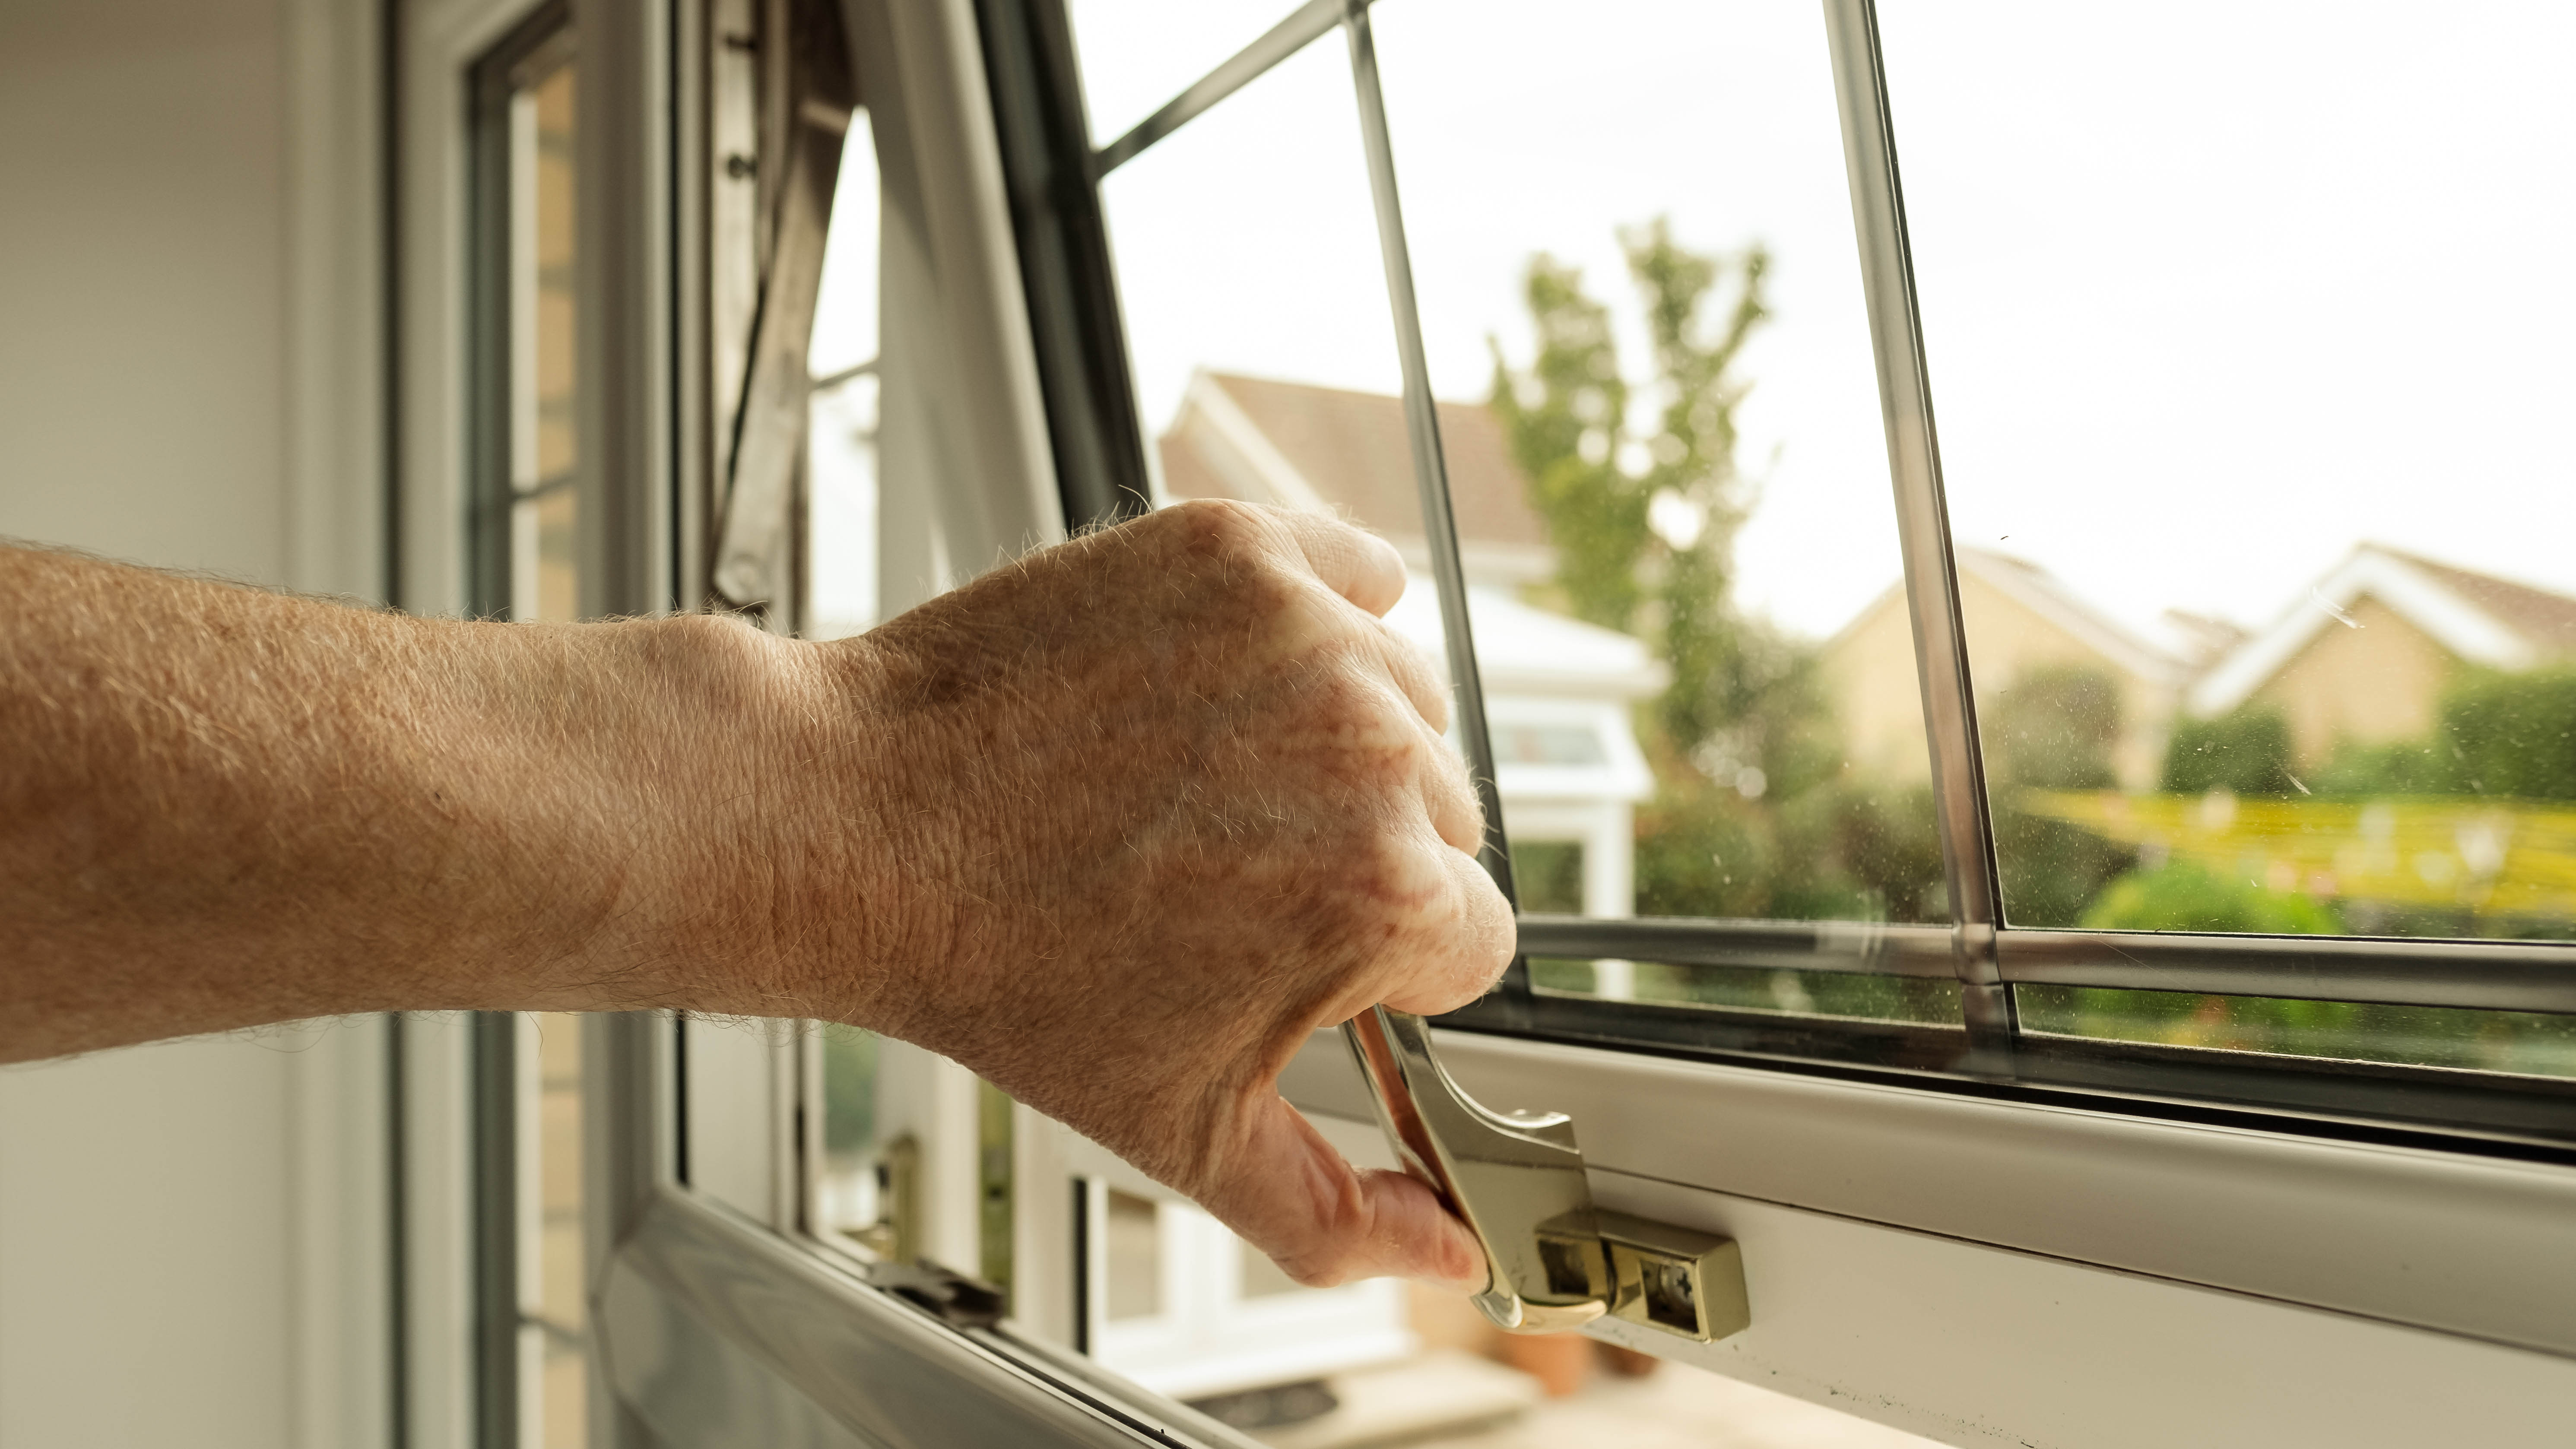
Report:
<svg viewBox="0 0 2576 1449"><path fill-rule="evenodd" d="M1932 430L1878 10L1870 0L1826 0L1824 26L1834 51L1834 95L1842 103L1842 157L1852 183L1852 226L1860 234L1878 401L1888 427L1888 476L1896 484L1896 535L1906 564L1906 607L1914 615L1914 661L1932 746L1932 808L1950 885L1971 1071L2009 1073L2014 1024L2012 993L1994 960L1994 932L2002 924L1994 831L1986 821L1986 772L1976 757L1968 636L1958 613L1950 510L1942 497L1940 438Z"/></svg>

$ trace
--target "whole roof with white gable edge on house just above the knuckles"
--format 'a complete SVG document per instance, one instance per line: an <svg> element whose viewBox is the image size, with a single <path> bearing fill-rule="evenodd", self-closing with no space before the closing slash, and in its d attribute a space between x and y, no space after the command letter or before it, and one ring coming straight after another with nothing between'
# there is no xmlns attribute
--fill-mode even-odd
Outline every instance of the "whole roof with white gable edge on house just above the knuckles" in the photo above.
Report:
<svg viewBox="0 0 2576 1449"><path fill-rule="evenodd" d="M1502 425L1481 404L1437 407L1458 540L1543 548L1548 528ZM1175 499L1314 507L1396 540L1422 538L1399 396L1200 371L1157 448Z"/></svg>

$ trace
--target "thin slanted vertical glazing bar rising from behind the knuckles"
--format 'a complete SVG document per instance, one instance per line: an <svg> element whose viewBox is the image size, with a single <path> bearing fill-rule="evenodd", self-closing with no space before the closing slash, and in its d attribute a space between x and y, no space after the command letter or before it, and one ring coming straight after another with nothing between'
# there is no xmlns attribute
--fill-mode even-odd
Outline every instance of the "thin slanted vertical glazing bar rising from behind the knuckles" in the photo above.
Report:
<svg viewBox="0 0 2576 1449"><path fill-rule="evenodd" d="M1314 5L1309 5L1314 10ZM1303 13L1303 10L1301 10ZM1430 540L1432 582L1440 589L1440 638L1450 656L1458 739L1476 775L1476 800L1484 803L1484 849L1479 860L1512 896L1512 862L1502 839L1502 793L1494 777L1494 736L1484 723L1484 679L1476 669L1476 638L1466 618L1466 566L1458 561L1458 517L1450 507L1448 461L1440 453L1440 414L1432 407L1432 371L1422 353L1422 311L1414 304L1414 260L1404 245L1404 206L1396 198L1396 152L1386 134L1386 93L1378 88L1378 46L1368 33L1368 0L1347 0L1342 10L1350 33L1350 80L1360 98L1360 144L1368 152L1368 190L1378 203L1378 252L1386 260L1386 301L1396 311L1396 358L1404 365L1404 432L1414 453L1414 486L1422 492L1422 535ZM1275 31L1273 31L1275 33ZM1528 968L1512 963L1507 991L1528 991Z"/></svg>

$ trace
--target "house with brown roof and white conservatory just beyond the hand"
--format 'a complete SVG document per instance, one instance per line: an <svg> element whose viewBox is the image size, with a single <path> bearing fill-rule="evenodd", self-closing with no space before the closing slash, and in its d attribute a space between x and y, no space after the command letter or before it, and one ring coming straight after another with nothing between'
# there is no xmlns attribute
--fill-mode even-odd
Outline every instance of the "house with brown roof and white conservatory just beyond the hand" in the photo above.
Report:
<svg viewBox="0 0 2576 1449"><path fill-rule="evenodd" d="M1633 806L1654 793L1628 710L1669 672L1633 636L1522 600L1556 574L1556 548L1492 412L1443 401L1440 448L1504 824L1522 844L1577 844L1584 914L1625 916ZM1414 577L1386 618L1445 661L1401 399L1200 371L1157 456L1172 499L1270 502L1386 535Z"/></svg>

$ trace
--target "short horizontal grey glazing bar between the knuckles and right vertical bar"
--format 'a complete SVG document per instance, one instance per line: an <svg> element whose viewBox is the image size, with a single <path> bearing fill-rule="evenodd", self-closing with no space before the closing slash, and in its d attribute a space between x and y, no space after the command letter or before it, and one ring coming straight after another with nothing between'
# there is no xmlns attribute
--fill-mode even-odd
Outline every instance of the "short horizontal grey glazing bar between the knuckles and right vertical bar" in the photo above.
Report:
<svg viewBox="0 0 2576 1449"><path fill-rule="evenodd" d="M1752 970L1839 970L1852 975L1953 973L1950 927L1870 921L1700 921L1522 916L1520 950L1556 957L1736 965Z"/></svg>

